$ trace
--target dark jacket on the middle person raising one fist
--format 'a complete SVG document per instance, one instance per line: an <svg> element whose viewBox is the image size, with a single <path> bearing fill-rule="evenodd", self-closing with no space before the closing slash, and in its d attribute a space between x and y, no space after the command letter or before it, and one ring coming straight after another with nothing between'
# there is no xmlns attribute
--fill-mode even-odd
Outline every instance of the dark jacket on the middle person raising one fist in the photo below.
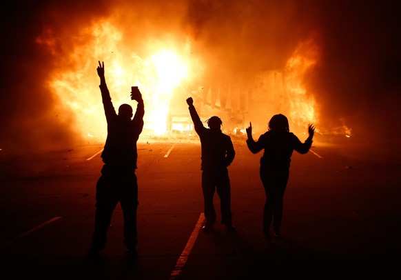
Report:
<svg viewBox="0 0 401 280"><path fill-rule="evenodd" d="M198 133L201 145L201 170L226 170L232 161L234 161L235 150L231 138L221 132L213 131L203 126L198 112L194 106L189 106L194 128Z"/></svg>

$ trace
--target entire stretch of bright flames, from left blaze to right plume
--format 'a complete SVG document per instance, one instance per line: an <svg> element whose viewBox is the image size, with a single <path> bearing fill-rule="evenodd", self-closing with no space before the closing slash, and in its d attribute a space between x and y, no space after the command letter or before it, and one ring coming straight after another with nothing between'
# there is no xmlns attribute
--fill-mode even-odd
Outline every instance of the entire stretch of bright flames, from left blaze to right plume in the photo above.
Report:
<svg viewBox="0 0 401 280"><path fill-rule="evenodd" d="M99 60L105 62L105 77L114 108L121 103L130 103L135 108L136 104L130 100L130 88L138 86L141 90L145 101L145 130L150 134L190 130L189 121L169 123L172 115L189 118L185 107L185 97L189 96L202 106L198 110L201 117L203 113L209 117L221 115L223 130L236 134L244 133L249 121L259 122L263 132L269 118L277 113L289 117L293 124L291 130L298 130L294 132L305 133L308 123L319 128L316 101L306 87L307 74L319 55L312 40L299 44L285 68L256 73L239 86L236 78L225 79L225 84L218 82L213 92L211 81L201 79L206 62L201 55L192 54L191 39L184 42L171 39L167 43L152 39L146 51L138 52L135 46L124 46L122 37L119 29L107 20L83 28L77 38L85 40L77 41L74 51L63 58L68 67L57 68L48 80L66 112L74 115L74 125L81 137L103 141L106 135L96 74ZM54 40L51 30L45 30L37 42L52 50ZM178 91L182 97L174 99ZM230 123L232 119L236 121Z"/></svg>

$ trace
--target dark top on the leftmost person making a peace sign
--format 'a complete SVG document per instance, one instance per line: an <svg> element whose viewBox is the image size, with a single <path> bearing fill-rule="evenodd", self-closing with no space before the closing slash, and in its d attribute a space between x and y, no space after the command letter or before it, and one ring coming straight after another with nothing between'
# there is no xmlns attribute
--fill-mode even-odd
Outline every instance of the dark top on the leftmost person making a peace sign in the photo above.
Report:
<svg viewBox="0 0 401 280"><path fill-rule="evenodd" d="M132 120L121 119L114 110L110 92L106 85L100 85L103 107L107 120L107 139L101 154L103 162L110 166L135 170L138 153L136 141L143 129L145 109L143 101L136 106Z"/></svg>

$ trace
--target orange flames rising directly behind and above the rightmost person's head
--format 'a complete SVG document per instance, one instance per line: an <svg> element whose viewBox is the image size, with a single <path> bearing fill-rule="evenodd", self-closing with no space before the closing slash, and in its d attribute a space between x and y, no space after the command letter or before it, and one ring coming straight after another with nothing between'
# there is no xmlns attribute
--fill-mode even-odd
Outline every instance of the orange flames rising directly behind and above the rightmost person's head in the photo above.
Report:
<svg viewBox="0 0 401 280"><path fill-rule="evenodd" d="M263 119L264 122L256 133L266 130L266 117L269 119L279 113L288 117L290 130L296 134L306 134L309 123L314 123L318 132L317 103L307 84L308 75L318 59L318 47L310 39L299 44L283 69L258 74L254 83L263 86L258 88L258 98L254 99L251 107L263 108L264 115L253 116L250 112L250 121L254 123L255 119Z"/></svg>

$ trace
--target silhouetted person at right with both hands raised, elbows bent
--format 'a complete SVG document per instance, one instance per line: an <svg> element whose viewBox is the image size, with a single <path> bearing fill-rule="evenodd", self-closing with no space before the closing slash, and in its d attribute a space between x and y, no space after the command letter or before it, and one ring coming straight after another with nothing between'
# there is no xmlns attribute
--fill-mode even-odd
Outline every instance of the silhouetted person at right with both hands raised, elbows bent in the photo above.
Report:
<svg viewBox="0 0 401 280"><path fill-rule="evenodd" d="M282 201L289 179L289 166L294 150L306 154L312 145L315 127L309 124L309 137L302 143L298 137L289 132L287 117L275 114L269 121L269 130L262 134L258 141L252 137L252 124L247 128L247 146L256 154L265 150L260 158L260 179L266 193L265 210L263 212L263 234L271 239L270 225L273 222L274 235L282 238L280 232L282 220Z"/></svg>

